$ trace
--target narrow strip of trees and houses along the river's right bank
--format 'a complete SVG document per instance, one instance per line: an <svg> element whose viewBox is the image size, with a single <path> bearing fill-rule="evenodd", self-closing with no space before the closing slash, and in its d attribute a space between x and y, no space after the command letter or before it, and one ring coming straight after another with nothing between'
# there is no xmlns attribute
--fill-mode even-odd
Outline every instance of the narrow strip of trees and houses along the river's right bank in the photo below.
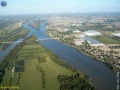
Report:
<svg viewBox="0 0 120 90"><path fill-rule="evenodd" d="M53 38L53 39L56 39L57 38L57 41L59 41L59 42L61 42L61 43L63 43L63 44L65 44L65 45L68 45L68 46L70 46L70 47L73 47L73 48L75 48L78 52L80 52L80 53L83 53L83 54L86 54L87 56L90 56L90 57L92 57L92 58L94 58L95 60L97 60L97 61L99 61L100 63L103 63L103 64L105 64L110 70L112 70L113 72L117 72L117 67L115 67L115 65L112 65L109 61L107 61L107 60L104 60L104 58L98 58L96 55L93 55L93 54L91 54L91 52L89 52L89 50L86 48L86 49L84 49L84 50L82 50L82 48L85 48L85 47L82 47L82 46L86 46L86 45L82 45L82 46L76 46L74 43L73 43L73 40L71 39L69 39L68 41L66 41L65 39L63 39L63 38L58 38L58 37L60 37L60 36L62 36L59 32L57 32L57 33L59 33L59 34L57 34L57 36L56 36L56 34L55 34L55 37L54 37L54 33L51 33L51 34L49 34L49 32L48 32L49 30L46 30L46 34L50 37L50 38ZM53 36L53 37L52 37ZM63 37L63 36L62 36ZM88 43L87 43L87 47L90 47L90 48L94 48L94 47L91 47Z"/></svg>

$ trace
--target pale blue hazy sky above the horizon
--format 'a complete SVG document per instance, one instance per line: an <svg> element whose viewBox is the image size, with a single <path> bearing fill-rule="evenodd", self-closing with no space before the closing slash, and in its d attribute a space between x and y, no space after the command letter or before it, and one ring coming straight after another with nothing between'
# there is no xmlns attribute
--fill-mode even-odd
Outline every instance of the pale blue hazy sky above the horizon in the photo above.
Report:
<svg viewBox="0 0 120 90"><path fill-rule="evenodd" d="M0 0L3 1L3 0ZM120 12L120 0L4 0L4 14Z"/></svg>

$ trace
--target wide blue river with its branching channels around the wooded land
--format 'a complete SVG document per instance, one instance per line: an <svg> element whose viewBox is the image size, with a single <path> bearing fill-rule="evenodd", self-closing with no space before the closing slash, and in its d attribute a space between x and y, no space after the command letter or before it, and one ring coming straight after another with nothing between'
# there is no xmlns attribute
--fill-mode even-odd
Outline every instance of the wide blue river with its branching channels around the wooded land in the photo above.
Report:
<svg viewBox="0 0 120 90"><path fill-rule="evenodd" d="M36 30L30 27L28 22L26 22L23 26L30 31L27 37L34 34L38 39L48 38L45 33L45 22L41 24L40 30ZM22 40L23 39L20 38L18 41ZM0 51L0 59L7 55L8 52L18 43L19 42L13 43L6 50ZM66 63L76 67L83 74L90 76L92 78L92 84L96 87L97 90L116 90L116 73L113 73L104 64L83 53L78 53L76 49L53 39L43 40L39 43L45 48L54 52L56 55L66 61Z"/></svg>

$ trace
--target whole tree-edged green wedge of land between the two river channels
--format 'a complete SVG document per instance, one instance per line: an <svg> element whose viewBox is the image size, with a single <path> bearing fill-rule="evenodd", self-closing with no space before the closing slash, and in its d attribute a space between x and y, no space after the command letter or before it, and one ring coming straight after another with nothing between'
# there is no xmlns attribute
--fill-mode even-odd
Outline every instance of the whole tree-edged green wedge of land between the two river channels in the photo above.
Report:
<svg viewBox="0 0 120 90"><path fill-rule="evenodd" d="M85 86L88 85L89 90L95 90L82 73L78 76L76 73L79 71L43 48L35 41L36 39L35 36L28 37L4 58L2 65L5 66L5 70L3 68L5 74L0 86L14 86L19 88L17 90L75 90L71 88L85 89ZM76 75L77 79L82 82L73 78ZM62 87L60 82L67 82L67 80L61 81L61 77L59 81L58 76L69 78L67 87L60 89ZM70 79L75 83L71 83Z"/></svg>

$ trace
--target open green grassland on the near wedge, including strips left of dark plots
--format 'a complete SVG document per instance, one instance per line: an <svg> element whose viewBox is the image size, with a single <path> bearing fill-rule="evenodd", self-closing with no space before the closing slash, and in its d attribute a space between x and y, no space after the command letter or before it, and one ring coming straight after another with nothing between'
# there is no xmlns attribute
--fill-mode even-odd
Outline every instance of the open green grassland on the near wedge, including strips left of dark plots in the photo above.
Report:
<svg viewBox="0 0 120 90"><path fill-rule="evenodd" d="M31 55L34 57L30 58L29 56ZM43 57L46 62L39 63L38 57ZM23 67L23 62L20 62L21 60L24 60L24 71L21 71L21 68ZM73 74L71 70L53 62L49 53L47 53L39 44L25 45L19 52L19 57L15 62L16 66L18 66L15 71L17 70L18 72L12 73L11 69L9 70L7 68L1 85L8 86L11 76L13 75L14 77L11 85L17 86L16 83L18 81L19 73L21 73L18 84L19 90L43 90L42 74L37 70L37 67L40 67L45 72L45 90L59 90L60 85L57 76Z"/></svg>

